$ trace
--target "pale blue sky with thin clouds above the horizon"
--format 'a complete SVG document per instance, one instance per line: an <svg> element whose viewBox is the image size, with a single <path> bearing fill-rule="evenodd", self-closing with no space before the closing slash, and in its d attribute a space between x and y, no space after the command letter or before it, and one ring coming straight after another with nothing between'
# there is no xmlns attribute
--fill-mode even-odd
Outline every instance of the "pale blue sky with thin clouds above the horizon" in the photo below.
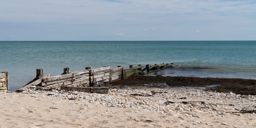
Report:
<svg viewBox="0 0 256 128"><path fill-rule="evenodd" d="M0 41L256 40L252 0L0 0Z"/></svg>

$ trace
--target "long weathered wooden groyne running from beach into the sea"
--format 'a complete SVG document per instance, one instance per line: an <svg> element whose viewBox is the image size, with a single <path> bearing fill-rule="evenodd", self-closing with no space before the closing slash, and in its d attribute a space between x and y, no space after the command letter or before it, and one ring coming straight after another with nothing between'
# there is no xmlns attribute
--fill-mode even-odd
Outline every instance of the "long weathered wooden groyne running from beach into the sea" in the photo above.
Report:
<svg viewBox="0 0 256 128"><path fill-rule="evenodd" d="M87 90L90 90L90 92L95 92L91 91L97 90L95 87L95 89L93 89L94 85L108 83L118 79L125 79L130 75L148 75L156 72L158 69L167 68L170 66L172 65L162 63L161 65L146 65L145 68L142 65L135 67L130 65L130 68L127 69L124 69L122 66L117 66L117 68L113 69L110 66L95 69L86 67L85 70L75 71L73 73L70 73L69 68L64 68L63 73L58 76L51 76L51 74L44 76L44 69L36 69L36 78L34 78L33 81L29 82L27 85L23 86L21 89L17 90L17 92L21 92L31 85L44 86L52 89L61 87L61 89L66 90L72 90L70 87L76 87L73 90L81 90L77 89L77 87L82 87L84 90L87 88ZM106 89L101 89L105 90L103 93L106 93Z"/></svg>

